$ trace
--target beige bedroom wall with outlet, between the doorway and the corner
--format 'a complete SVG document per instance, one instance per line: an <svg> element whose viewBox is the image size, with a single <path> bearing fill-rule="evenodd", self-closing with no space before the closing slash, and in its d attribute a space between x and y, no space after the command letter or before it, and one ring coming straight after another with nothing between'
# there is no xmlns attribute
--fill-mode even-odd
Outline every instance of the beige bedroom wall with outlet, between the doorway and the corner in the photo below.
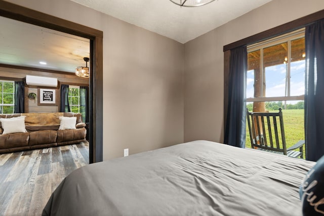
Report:
<svg viewBox="0 0 324 216"><path fill-rule="evenodd" d="M183 44L68 0L9 2L103 31L104 160L183 142Z"/></svg>

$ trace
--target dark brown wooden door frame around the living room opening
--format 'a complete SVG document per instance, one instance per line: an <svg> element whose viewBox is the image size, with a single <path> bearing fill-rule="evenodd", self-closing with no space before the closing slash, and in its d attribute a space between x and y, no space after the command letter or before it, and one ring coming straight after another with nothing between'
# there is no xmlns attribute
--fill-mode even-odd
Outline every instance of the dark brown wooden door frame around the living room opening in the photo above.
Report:
<svg viewBox="0 0 324 216"><path fill-rule="evenodd" d="M90 39L89 163L103 160L103 32L0 0L0 16Z"/></svg>

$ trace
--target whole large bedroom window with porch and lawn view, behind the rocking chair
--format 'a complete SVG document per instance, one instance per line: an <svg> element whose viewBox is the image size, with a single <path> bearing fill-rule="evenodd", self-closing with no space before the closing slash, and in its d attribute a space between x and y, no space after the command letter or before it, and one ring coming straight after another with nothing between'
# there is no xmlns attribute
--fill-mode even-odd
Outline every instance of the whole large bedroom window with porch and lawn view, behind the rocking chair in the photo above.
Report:
<svg viewBox="0 0 324 216"><path fill-rule="evenodd" d="M282 108L287 147L305 137L304 94L304 29L248 46L247 108L250 112ZM251 147L248 129L246 146Z"/></svg>

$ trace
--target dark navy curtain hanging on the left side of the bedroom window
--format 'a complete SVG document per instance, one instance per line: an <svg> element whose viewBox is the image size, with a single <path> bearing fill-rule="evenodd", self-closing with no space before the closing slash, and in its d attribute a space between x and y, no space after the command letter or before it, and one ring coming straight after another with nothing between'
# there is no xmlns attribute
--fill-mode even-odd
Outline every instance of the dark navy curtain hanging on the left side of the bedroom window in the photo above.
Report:
<svg viewBox="0 0 324 216"><path fill-rule="evenodd" d="M230 52L228 76L228 107L224 143L245 147L246 138L246 83L248 53L247 47L238 47Z"/></svg>

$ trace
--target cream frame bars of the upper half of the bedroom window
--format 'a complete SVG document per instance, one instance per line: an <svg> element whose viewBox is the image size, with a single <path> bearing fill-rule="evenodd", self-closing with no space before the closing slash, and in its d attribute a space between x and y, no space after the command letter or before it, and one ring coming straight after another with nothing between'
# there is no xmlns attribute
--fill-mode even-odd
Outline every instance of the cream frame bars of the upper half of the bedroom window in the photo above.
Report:
<svg viewBox="0 0 324 216"><path fill-rule="evenodd" d="M296 30L294 32L280 35L278 37L271 38L259 43L254 43L247 47L248 53L256 50L260 50L260 71L263 75L263 49L274 46L277 44L288 42L288 54L287 54L287 77L286 77L286 92L287 96L278 97L249 97L247 102L264 102L264 101L289 101L289 100L304 100L303 95L290 96L290 68L291 68L291 41L305 37L305 28ZM262 77L263 82L263 77ZM263 95L263 88L261 87L261 95Z"/></svg>

